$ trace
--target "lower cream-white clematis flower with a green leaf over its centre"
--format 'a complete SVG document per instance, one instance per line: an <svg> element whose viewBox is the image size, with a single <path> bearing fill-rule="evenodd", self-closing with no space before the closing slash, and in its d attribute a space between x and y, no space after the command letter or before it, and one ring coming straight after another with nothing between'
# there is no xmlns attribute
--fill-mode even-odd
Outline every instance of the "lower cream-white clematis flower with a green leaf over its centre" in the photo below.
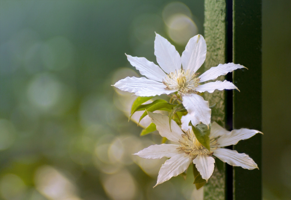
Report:
<svg viewBox="0 0 291 200"><path fill-rule="evenodd" d="M151 145L134 155L147 159L160 159L168 157L170 159L162 165L157 184L161 184L173 176L183 173L193 162L203 179L206 181L214 171L215 156L221 161L232 166L241 166L244 169L255 169L258 165L245 153L238 153L236 150L221 148L228 145L235 145L240 140L248 139L257 133L262 133L253 129L238 129L227 131L217 123L213 122L210 131L210 151L207 150L196 139L192 128L188 126L191 117L183 116L183 130L178 124L171 120L171 130L168 116L159 113L148 112L152 122L156 124L157 130L162 137L177 144ZM187 123L187 124L186 124ZM193 121L192 121L193 123ZM194 126L197 124L193 124ZM155 185L155 186L156 186Z"/></svg>

